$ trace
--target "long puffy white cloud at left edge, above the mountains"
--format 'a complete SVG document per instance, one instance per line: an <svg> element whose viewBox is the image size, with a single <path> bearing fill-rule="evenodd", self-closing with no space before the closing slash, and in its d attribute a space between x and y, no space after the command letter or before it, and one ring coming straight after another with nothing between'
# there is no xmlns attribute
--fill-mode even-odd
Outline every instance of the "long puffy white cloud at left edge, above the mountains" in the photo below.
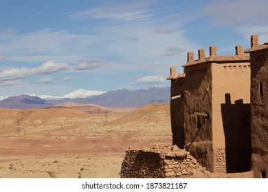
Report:
<svg viewBox="0 0 268 192"><path fill-rule="evenodd" d="M31 69L25 67L4 69L0 72L0 80L19 80L32 75L56 73L67 69L69 69L69 65L66 63L48 61L39 67Z"/></svg>

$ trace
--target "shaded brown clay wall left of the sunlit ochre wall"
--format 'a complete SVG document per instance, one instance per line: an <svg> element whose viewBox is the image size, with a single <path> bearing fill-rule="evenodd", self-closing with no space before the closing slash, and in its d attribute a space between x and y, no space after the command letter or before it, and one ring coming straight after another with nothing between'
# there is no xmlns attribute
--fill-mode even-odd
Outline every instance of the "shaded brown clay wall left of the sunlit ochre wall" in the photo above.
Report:
<svg viewBox="0 0 268 192"><path fill-rule="evenodd" d="M186 91L184 94L184 127L186 149L199 163L214 172L214 154L212 149L212 74L210 62L185 67ZM201 112L207 118L194 115Z"/></svg>

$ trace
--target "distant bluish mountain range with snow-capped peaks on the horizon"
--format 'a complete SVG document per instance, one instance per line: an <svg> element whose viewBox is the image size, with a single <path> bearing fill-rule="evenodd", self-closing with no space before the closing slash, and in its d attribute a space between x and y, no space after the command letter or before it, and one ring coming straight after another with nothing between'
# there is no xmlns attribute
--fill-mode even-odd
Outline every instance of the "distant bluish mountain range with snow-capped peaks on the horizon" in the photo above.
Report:
<svg viewBox="0 0 268 192"><path fill-rule="evenodd" d="M1 97L0 97L1 98ZM46 108L71 101L80 104L98 104L111 108L140 108L148 104L166 104L170 101L170 87L150 87L115 91L88 91L78 89L72 93L59 96L36 95L34 93L12 96L0 101L0 108Z"/></svg>

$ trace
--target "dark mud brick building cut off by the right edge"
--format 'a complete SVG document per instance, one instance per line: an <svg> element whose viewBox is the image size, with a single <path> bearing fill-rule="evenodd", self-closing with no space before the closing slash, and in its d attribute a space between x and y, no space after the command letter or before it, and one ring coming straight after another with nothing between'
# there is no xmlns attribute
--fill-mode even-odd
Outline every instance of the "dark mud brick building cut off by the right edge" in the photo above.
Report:
<svg viewBox="0 0 268 192"><path fill-rule="evenodd" d="M252 170L255 178L268 178L268 45L251 37L251 130Z"/></svg>

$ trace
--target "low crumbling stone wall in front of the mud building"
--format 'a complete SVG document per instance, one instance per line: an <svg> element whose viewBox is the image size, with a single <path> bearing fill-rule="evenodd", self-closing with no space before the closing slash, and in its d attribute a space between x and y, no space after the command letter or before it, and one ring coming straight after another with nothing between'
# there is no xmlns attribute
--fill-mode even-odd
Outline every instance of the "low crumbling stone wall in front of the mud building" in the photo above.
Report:
<svg viewBox="0 0 268 192"><path fill-rule="evenodd" d="M177 145L126 149L121 178L190 178L194 171L207 173L197 160Z"/></svg>

